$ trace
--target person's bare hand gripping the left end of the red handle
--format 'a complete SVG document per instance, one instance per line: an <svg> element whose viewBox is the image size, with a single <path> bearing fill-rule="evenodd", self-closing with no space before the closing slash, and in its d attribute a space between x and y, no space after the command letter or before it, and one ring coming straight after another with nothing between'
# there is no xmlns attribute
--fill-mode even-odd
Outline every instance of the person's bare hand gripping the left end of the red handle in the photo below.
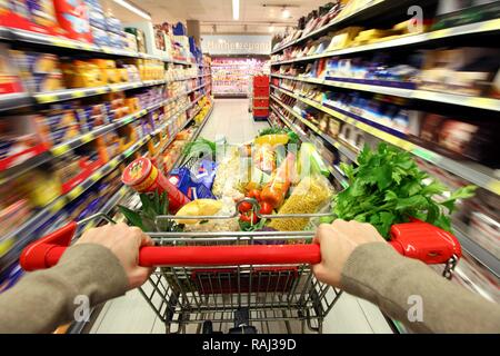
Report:
<svg viewBox="0 0 500 356"><path fill-rule="evenodd" d="M99 244L109 248L120 260L129 278L130 289L142 286L152 268L139 266L139 249L153 240L138 227L124 222L108 224L86 231L77 244Z"/></svg>

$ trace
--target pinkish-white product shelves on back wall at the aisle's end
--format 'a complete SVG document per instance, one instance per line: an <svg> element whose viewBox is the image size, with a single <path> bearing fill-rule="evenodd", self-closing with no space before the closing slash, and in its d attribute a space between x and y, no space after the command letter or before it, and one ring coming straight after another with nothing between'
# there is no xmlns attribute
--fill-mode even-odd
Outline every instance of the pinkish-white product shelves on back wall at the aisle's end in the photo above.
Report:
<svg viewBox="0 0 500 356"><path fill-rule="evenodd" d="M267 60L260 58L212 58L213 95L248 97L251 78L262 73Z"/></svg>

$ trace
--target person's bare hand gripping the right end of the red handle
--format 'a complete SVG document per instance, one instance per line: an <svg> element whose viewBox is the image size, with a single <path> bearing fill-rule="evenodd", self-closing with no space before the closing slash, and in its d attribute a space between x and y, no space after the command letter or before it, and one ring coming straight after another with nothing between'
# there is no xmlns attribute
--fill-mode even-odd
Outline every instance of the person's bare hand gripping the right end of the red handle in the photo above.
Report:
<svg viewBox="0 0 500 356"><path fill-rule="evenodd" d="M386 240L370 224L340 219L331 225L321 224L314 237L314 243L319 244L321 249L321 263L312 266L316 278L330 286L339 287L343 266L354 248L377 241Z"/></svg>

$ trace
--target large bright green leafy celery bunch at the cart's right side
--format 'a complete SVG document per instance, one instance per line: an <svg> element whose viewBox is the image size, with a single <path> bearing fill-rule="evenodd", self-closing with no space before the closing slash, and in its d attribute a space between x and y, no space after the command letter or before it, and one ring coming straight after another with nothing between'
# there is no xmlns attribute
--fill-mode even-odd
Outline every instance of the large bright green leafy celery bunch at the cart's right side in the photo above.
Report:
<svg viewBox="0 0 500 356"><path fill-rule="evenodd" d="M349 187L333 197L333 214L344 220L370 222L384 238L393 224L418 218L447 231L451 230L449 215L458 199L473 196L476 186L453 192L421 171L410 154L386 144L376 151L368 147L358 157L359 166L341 165ZM438 201L437 195L447 198Z"/></svg>

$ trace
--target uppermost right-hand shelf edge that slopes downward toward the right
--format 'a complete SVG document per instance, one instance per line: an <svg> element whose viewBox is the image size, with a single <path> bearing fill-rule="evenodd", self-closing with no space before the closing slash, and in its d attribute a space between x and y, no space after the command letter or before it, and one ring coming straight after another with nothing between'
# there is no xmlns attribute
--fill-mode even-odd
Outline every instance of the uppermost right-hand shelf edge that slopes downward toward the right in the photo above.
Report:
<svg viewBox="0 0 500 356"><path fill-rule="evenodd" d="M290 79L294 81L309 82L314 85L322 85L327 87L333 88L343 88L343 89L352 89L352 90L361 90L388 96L394 96L400 98L408 98L414 100L426 100L441 103L449 103L456 106L464 106L474 109L483 109L483 110L492 110L500 111L500 100L491 99L491 98L481 98L481 97L470 97L462 95L453 95L441 91L429 91L429 90L412 90L412 89L403 89L403 88L393 88L393 87L384 87L384 86L376 86L368 83L357 83L357 82L347 82L340 80L329 80L329 79L318 79L318 78L300 78L292 76L281 76L281 75L271 75L271 77L281 78L281 79Z"/></svg>

